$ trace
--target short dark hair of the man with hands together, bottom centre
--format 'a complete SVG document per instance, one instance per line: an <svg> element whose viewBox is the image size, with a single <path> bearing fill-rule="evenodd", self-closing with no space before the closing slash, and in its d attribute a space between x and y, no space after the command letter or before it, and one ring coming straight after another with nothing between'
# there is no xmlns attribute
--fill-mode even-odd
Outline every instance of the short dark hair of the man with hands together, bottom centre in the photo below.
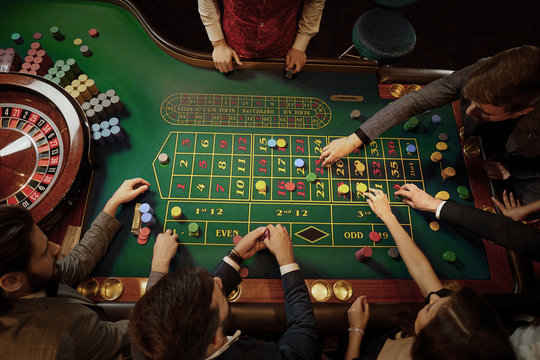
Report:
<svg viewBox="0 0 540 360"><path fill-rule="evenodd" d="M135 304L131 342L147 359L204 359L220 325L213 292L214 280L206 269L165 275Z"/></svg>

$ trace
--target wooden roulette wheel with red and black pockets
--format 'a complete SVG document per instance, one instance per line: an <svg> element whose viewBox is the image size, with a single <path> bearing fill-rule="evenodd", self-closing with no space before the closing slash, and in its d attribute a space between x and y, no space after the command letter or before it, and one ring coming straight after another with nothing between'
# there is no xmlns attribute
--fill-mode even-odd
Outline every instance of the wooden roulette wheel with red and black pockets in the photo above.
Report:
<svg viewBox="0 0 540 360"><path fill-rule="evenodd" d="M50 229L92 173L84 112L52 82L0 73L0 119L0 204L24 206Z"/></svg>

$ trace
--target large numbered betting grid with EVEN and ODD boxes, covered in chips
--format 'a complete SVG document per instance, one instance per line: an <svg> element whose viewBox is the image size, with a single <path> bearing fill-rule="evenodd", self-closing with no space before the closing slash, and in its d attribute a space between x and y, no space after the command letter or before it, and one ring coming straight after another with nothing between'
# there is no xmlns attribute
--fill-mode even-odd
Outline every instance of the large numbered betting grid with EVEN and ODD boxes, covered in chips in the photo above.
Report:
<svg viewBox="0 0 540 360"><path fill-rule="evenodd" d="M333 139L171 132L153 163L160 197L168 200L165 226L189 234L189 222L204 224L202 234L185 243L230 244L231 237L253 227L283 223L297 246L373 245L370 233L383 240L389 234L362 195L371 187L389 195L410 232L409 209L393 193L405 182L424 188L418 153L407 150L411 144L417 148L416 140L379 138L323 168L319 156ZM160 154L171 161L161 163ZM312 173L314 181L308 180ZM256 186L261 181L263 190ZM343 184L350 191L340 193ZM184 214L180 219L170 214L177 206Z"/></svg>

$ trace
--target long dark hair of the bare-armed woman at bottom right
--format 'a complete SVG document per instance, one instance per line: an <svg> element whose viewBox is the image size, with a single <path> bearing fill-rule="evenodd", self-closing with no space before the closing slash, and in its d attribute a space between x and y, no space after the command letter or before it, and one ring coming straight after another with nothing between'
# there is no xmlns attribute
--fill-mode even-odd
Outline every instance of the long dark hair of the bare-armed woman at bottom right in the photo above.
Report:
<svg viewBox="0 0 540 360"><path fill-rule="evenodd" d="M512 360L514 350L499 316L470 288L454 293L414 340L415 360Z"/></svg>

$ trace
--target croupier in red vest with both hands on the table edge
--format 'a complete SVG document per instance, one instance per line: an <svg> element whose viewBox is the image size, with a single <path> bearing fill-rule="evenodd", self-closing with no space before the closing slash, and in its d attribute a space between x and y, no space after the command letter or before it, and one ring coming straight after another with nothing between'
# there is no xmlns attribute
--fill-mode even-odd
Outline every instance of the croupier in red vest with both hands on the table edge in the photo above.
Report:
<svg viewBox="0 0 540 360"><path fill-rule="evenodd" d="M220 72L233 71L233 60L243 65L240 58L285 57L286 70L296 74L319 32L325 0L223 0L223 16L217 0L198 2Z"/></svg>

